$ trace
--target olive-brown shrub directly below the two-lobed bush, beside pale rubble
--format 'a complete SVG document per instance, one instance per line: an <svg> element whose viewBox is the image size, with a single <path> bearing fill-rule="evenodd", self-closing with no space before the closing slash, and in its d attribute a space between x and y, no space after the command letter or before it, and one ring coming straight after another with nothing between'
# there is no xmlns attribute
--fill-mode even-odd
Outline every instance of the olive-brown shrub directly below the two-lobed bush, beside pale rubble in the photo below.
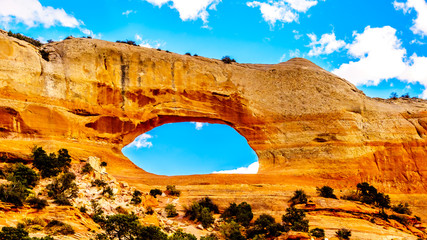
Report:
<svg viewBox="0 0 427 240"><path fill-rule="evenodd" d="M46 186L49 197L52 197L59 205L71 205L69 199L77 197L78 193L75 179L74 173L64 173L56 177L51 184Z"/></svg>

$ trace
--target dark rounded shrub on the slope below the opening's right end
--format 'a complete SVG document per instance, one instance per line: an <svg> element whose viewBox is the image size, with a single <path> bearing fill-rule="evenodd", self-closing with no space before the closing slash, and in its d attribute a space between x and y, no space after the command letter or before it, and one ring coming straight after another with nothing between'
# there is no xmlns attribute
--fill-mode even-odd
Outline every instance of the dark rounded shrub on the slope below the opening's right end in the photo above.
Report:
<svg viewBox="0 0 427 240"><path fill-rule="evenodd" d="M243 226L248 226L253 217L251 205L246 202L239 205L230 203L230 206L221 214L221 218L225 221L235 221Z"/></svg>

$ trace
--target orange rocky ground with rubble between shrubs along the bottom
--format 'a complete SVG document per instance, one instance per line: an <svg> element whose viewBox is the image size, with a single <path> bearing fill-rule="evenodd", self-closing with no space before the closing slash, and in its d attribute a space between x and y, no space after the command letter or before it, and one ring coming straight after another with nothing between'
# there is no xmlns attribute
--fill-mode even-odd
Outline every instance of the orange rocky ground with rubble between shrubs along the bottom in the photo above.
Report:
<svg viewBox="0 0 427 240"><path fill-rule="evenodd" d="M83 174L81 169L84 164L90 163L93 172ZM153 186L137 184L139 190L143 192L140 204L132 204L132 193L136 190L134 186L129 186L124 181L118 181L106 172L105 167L100 166L100 160L96 157L89 157L80 162L74 162L71 168L77 176L78 196L72 200L73 206L57 206L53 200L49 200L49 206L43 210L36 210L29 206L13 207L9 204L0 203L0 226L16 226L18 223L33 222L29 224L27 230L31 236L44 236L53 234L56 239L91 239L97 233L102 232L90 215L93 213L93 204L96 203L107 215L117 213L135 213L140 218L143 225L154 224L161 227L166 233L171 234L178 229L192 233L198 238L209 233L216 233L220 236L219 226L221 219L215 215L213 227L204 229L200 224L184 218L184 206L188 206L192 201L199 200L205 196L213 199L218 204L220 210L225 209L230 202L246 201L251 204L254 219L260 214L267 213L281 221L281 216L288 207L289 199L299 186L296 185L269 185L269 184L239 184L239 185L183 185L177 186L182 190L181 197L161 196L154 198L149 195L150 189L159 188L164 190L165 186ZM112 196L103 194L103 187L93 186L92 182L100 179L106 182L105 187L112 189ZM2 180L5 181L5 180ZM51 179L41 180L33 194L47 199L46 186ZM203 190L200 190L203 188ZM310 204L297 205L307 211L307 218L310 222L310 229L319 227L325 229L326 237L333 239L336 230L347 228L352 231L351 239L424 239L426 225L417 221L413 216L402 215L409 224L403 225L396 220L385 221L378 216L379 209L370 205L353 201L329 199L317 197L316 192L307 188L304 189L310 197ZM346 191L339 194L344 195ZM195 194L195 193L198 193ZM179 215L167 218L164 210L168 204L174 204ZM86 212L80 209L86 208ZM153 214L147 214L147 210L154 210ZM393 214L390 210L386 213ZM30 221L31 220L31 221ZM59 220L72 226L75 233L72 235L61 235L54 231L46 231L44 226L52 221ZM290 232L279 239L309 239L306 233Z"/></svg>

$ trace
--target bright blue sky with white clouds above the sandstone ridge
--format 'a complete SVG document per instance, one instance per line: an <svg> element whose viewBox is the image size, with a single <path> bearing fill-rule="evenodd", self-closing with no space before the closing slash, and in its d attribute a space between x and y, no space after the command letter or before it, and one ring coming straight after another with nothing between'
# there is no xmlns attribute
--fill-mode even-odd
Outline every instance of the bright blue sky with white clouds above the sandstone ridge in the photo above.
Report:
<svg viewBox="0 0 427 240"><path fill-rule="evenodd" d="M368 96L427 98L426 0L0 0L0 27L240 63L305 57Z"/></svg>

